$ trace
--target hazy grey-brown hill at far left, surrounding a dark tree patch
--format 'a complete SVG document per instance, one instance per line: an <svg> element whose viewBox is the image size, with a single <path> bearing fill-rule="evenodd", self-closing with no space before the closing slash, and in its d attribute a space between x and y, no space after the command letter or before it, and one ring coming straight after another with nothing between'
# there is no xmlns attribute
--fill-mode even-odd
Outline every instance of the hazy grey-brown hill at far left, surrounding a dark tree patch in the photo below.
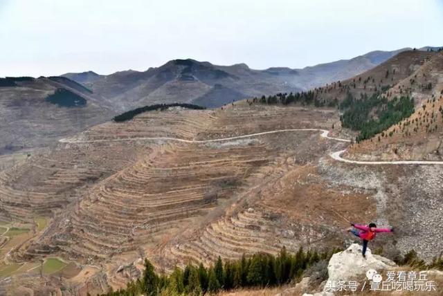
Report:
<svg viewBox="0 0 443 296"><path fill-rule="evenodd" d="M66 80L66 78L64 78ZM45 98L56 89L67 89L87 100L84 107L59 107ZM19 149L46 147L109 118L112 111L100 100L69 80L40 77L0 87L0 154Z"/></svg>

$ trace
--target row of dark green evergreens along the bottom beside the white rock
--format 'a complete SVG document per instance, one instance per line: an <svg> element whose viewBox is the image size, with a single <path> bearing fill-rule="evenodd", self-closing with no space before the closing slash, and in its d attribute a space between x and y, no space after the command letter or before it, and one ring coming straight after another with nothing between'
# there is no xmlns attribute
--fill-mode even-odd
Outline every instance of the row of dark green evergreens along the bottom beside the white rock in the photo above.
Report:
<svg viewBox="0 0 443 296"><path fill-rule="evenodd" d="M152 263L145 259L145 271L140 279L131 281L125 289L111 290L102 296L205 295L233 288L278 286L300 278L309 266L329 260L338 251L319 254L300 248L296 254L290 254L283 248L277 256L257 253L224 263L218 257L209 268L201 263L199 266L188 264L184 270L174 268L169 276L157 274Z"/></svg>

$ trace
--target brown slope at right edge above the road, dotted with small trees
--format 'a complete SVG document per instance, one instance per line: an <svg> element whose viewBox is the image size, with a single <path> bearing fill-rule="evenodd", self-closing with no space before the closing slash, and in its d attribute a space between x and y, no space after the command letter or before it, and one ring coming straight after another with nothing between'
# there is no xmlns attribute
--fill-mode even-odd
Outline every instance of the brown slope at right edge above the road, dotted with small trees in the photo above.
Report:
<svg viewBox="0 0 443 296"><path fill-rule="evenodd" d="M443 53L435 53L388 91L408 94L415 113L387 131L350 149L350 156L371 159L443 159Z"/></svg>

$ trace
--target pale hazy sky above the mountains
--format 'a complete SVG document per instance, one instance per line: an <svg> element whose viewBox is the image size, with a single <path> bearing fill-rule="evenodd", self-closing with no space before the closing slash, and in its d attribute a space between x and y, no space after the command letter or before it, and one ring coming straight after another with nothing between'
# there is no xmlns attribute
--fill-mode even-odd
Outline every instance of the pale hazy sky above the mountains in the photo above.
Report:
<svg viewBox="0 0 443 296"><path fill-rule="evenodd" d="M443 0L0 0L0 77L170 59L302 68L443 45Z"/></svg>

